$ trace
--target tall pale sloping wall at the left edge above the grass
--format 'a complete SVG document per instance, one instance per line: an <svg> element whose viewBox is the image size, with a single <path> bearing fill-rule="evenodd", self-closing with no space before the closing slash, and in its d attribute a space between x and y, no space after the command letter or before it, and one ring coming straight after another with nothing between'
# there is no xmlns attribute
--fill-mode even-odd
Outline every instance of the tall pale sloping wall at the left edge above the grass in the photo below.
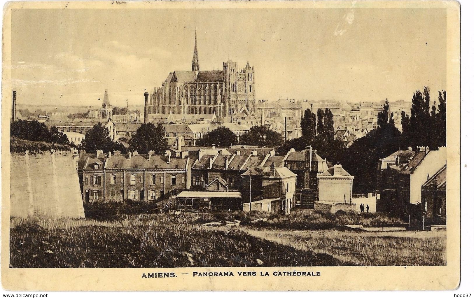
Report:
<svg viewBox="0 0 474 298"><path fill-rule="evenodd" d="M71 152L11 155L10 216L28 215L84 217Z"/></svg>

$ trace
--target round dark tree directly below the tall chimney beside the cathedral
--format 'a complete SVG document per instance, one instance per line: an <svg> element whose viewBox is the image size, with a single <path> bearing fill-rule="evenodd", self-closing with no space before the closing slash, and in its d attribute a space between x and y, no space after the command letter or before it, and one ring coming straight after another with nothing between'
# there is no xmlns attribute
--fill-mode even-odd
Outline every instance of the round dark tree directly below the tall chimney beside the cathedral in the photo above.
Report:
<svg viewBox="0 0 474 298"><path fill-rule="evenodd" d="M139 154L147 154L155 151L155 154L164 154L169 149L168 142L164 138L165 130L159 123L144 123L137 129L137 133L130 140L130 150L138 151Z"/></svg>

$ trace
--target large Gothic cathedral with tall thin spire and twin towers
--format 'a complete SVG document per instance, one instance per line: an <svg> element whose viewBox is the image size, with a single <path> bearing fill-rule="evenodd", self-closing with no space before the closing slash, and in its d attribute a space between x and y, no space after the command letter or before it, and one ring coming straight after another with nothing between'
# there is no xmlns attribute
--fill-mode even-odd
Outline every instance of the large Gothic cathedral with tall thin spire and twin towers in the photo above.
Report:
<svg viewBox="0 0 474 298"><path fill-rule="evenodd" d="M191 71L170 72L160 88L145 95L145 122L149 114L215 114L230 117L255 111L254 68L248 62L242 70L229 60L222 71L200 71L197 33Z"/></svg>

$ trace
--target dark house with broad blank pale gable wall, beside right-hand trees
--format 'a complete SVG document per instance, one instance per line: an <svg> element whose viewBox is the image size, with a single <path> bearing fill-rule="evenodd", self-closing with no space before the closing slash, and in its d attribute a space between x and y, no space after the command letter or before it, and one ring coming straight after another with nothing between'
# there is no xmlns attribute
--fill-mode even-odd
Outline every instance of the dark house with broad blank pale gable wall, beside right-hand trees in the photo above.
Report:
<svg viewBox="0 0 474 298"><path fill-rule="evenodd" d="M446 147L399 150L379 160L377 211L418 214L422 185L446 164Z"/></svg>

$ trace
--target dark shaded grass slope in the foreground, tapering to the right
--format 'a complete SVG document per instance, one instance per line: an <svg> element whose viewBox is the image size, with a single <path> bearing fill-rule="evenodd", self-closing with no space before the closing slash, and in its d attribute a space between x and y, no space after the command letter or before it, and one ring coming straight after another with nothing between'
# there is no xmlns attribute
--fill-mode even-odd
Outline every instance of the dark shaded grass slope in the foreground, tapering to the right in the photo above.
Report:
<svg viewBox="0 0 474 298"><path fill-rule="evenodd" d="M192 214L125 220L12 220L10 266L246 267L337 266L324 253L301 251L246 234L196 224Z"/></svg>

